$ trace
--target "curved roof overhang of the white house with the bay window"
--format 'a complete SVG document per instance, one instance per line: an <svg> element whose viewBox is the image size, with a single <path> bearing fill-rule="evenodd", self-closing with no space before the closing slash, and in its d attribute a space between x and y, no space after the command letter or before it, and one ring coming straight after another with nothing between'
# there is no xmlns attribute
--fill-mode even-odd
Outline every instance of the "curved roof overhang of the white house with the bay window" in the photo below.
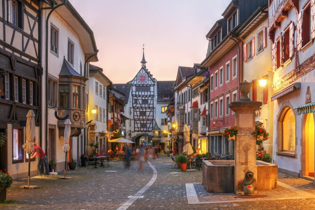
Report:
<svg viewBox="0 0 315 210"><path fill-rule="evenodd" d="M63 1L58 0L59 3ZM80 14L72 6L72 4L67 1L65 6L61 6L56 9L57 14L60 15L62 19L66 21L67 24L77 33L85 53L85 57L97 54L98 49L96 47L94 33L88 24L83 20ZM97 55L91 57L89 61L96 62L98 61Z"/></svg>

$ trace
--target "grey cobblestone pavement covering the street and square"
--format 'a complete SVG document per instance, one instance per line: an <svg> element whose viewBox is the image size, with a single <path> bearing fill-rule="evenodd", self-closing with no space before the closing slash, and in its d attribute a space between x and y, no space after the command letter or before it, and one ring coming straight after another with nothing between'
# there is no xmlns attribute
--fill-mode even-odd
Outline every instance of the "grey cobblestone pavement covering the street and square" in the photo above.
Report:
<svg viewBox="0 0 315 210"><path fill-rule="evenodd" d="M201 183L202 172L181 172L173 168L171 159L162 156L150 160L157 170L153 185L128 209L314 209L315 199L272 201L242 201L211 204L187 204L186 183ZM108 172L115 171L115 172ZM39 189L22 190L27 179L14 181L7 190L11 203L0 204L0 209L117 209L128 196L134 195L152 178L153 171L146 163L138 170L137 162L124 169L123 162L113 161L111 167L79 168L67 171L69 180L55 177L34 177L31 184ZM304 179L279 173L278 180L300 190L315 194L315 184Z"/></svg>

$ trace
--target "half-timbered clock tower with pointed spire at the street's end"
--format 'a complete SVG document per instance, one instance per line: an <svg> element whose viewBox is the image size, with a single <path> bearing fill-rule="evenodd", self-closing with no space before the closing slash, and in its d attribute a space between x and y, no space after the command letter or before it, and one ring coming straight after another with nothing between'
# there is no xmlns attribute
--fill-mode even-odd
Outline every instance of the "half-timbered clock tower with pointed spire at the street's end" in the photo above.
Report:
<svg viewBox="0 0 315 210"><path fill-rule="evenodd" d="M134 132L133 136L141 133L148 134L150 138L153 122L155 120L155 102L156 102L156 79L153 78L152 74L146 68L146 60L143 56L140 62L142 64L140 71L131 80L132 84L132 107L134 113ZM136 139L135 139L136 140ZM150 141L150 139L148 139ZM138 143L138 142L137 142Z"/></svg>

